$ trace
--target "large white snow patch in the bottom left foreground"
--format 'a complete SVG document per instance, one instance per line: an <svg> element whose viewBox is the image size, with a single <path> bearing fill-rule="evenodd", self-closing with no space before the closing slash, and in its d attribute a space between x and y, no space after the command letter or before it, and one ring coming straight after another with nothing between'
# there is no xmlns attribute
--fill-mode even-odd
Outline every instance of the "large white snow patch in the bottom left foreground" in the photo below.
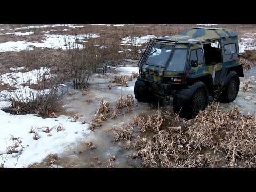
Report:
<svg viewBox="0 0 256 192"><path fill-rule="evenodd" d="M27 167L33 163L40 163L49 153L57 155L63 153L92 132L88 130L89 124L68 121L68 117L63 115L43 119L34 115L11 115L0 110L0 121L0 154L2 154L0 161L3 163L4 158L10 155L4 167ZM63 130L57 132L58 126L62 126ZM44 132L46 128L52 130L46 133ZM35 134L29 133L30 129L36 132L38 140L33 139ZM8 147L10 148L14 143L11 139L12 135L19 138L22 143L16 148L17 153L6 154ZM21 150L23 151L19 157Z"/></svg>

